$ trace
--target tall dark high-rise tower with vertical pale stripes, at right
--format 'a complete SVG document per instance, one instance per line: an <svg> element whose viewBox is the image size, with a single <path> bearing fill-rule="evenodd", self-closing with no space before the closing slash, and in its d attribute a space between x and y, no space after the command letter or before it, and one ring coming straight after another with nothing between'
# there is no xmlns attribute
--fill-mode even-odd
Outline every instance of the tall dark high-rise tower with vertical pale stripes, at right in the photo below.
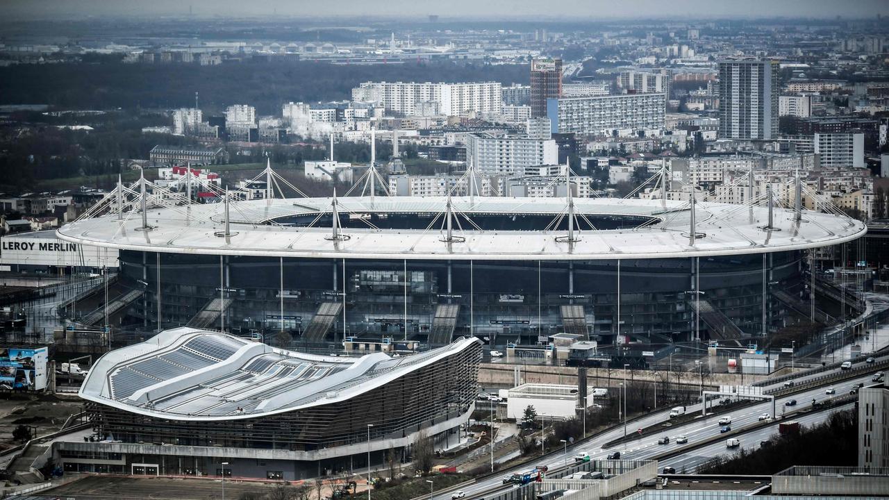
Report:
<svg viewBox="0 0 889 500"><path fill-rule="evenodd" d="M774 139L778 135L778 61L719 62L719 137Z"/></svg>

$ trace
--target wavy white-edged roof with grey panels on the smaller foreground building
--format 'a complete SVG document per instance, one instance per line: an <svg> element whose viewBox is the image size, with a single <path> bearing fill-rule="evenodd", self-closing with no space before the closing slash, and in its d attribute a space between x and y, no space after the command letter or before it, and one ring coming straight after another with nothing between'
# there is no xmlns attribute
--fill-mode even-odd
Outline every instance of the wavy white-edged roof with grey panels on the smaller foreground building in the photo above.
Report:
<svg viewBox="0 0 889 500"><path fill-rule="evenodd" d="M80 397L173 420L252 418L350 399L480 342L461 338L401 358L341 358L179 327L102 356Z"/></svg>

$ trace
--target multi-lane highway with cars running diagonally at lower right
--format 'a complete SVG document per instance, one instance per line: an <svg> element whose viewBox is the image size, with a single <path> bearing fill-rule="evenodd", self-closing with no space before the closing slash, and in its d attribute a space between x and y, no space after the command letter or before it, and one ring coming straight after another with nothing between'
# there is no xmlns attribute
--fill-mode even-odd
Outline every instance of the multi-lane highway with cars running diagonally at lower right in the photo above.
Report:
<svg viewBox="0 0 889 500"><path fill-rule="evenodd" d="M885 356L881 357L885 358ZM839 369L836 370L839 372ZM874 371L877 371L875 368ZM834 370L830 372L821 372L819 375L825 375L827 373L833 373ZM837 396L846 395L851 391L854 385L858 383L871 383L871 377L873 373L868 373L864 375L859 375L849 380L845 380L840 383L835 383L832 385L821 386L817 388L813 388L807 391L798 392L796 394L792 394L790 396L783 396L781 398L777 398L775 400L775 409L777 411L777 415L781 416L786 411L791 411L793 409L801 409L810 407L813 403L813 399L815 401L824 401ZM836 394L829 395L826 394L826 390L832 387ZM787 407L784 403L786 403L789 399L796 399L797 405L794 407ZM496 496L499 491L505 490L507 488L513 488L511 486L504 486L502 484L503 476L508 474L512 474L513 472L521 472L525 471L533 467L536 464L545 464L550 468L555 468L565 464L566 462L571 463L573 461L572 456L581 452L586 451L593 459L605 459L608 454L614 451L621 452L621 458L625 459L643 459L649 458L652 456L660 455L665 451L669 451L670 449L682 448L686 445L677 445L676 437L679 435L685 435L688 438L688 444L693 445L696 441L706 440L713 436L719 435L720 424L718 423L719 419L725 415L732 416L732 428L734 430L745 427L751 423L758 423L759 415L768 413L770 416L773 416L773 405L771 401L763 401L754 405L750 405L748 407L743 407L740 409L736 409L734 411L728 412L719 412L719 407L709 408L709 411L712 410L712 413L709 413L706 417L697 418L691 422L685 423L681 426L673 427L673 426L665 426L665 431L662 433L655 433L646 435L638 440L630 440L629 442L625 442L619 444L613 448L602 448L605 443L621 438L623 436L624 430L623 427L614 428L610 431L606 431L603 434L598 435L595 439L589 440L587 442L581 443L579 445L569 445L567 449L567 455L563 452L554 452L550 453L546 456L541 456L541 459L538 462L533 462L529 466L523 467L513 467L506 470L501 471L501 474L497 474L493 478L489 478L486 480L482 480L477 482L476 484L469 485L466 488L463 488L463 491L466 492L466 497L471 499L478 498L480 496L489 497ZM690 405L687 407L688 412L694 412L697 410L697 413L701 413L701 405ZM831 410L836 411L836 410ZM669 423L669 407L663 408L661 411L646 415L645 417L637 420L636 422L629 423L627 426L628 434L632 434L638 428L647 428L651 425L657 423ZM793 420L799 420L805 423L815 423L824 420L829 412L819 412L813 415L801 415L800 418L792 417ZM805 418L805 419L804 419ZM744 438L745 440L752 440L754 443L758 445L760 440L765 440L765 437L758 436L768 436L771 435L772 432L777 430L777 422L770 426L769 428L759 430L751 434L750 438ZM668 445L658 445L657 441L662 436L669 436L670 442ZM740 439L740 438L739 438ZM690 464L685 464L686 467L692 466L694 464L700 464L701 462L707 460L710 456L715 456L718 454L718 451L721 449L723 453L727 453L729 450L725 448L725 440L719 440L717 443L708 445L705 448L701 448L699 450L690 450L685 453L683 456L677 456L674 458L670 458L669 461L665 461L665 464L677 463L677 460L680 460L684 456L699 456L700 459L697 462L692 462ZM695 455L692 455L695 454ZM672 462L670 462L672 461ZM676 465L673 465L676 467ZM681 466L681 464L680 464ZM677 467L677 471L678 471ZM499 487L496 490L493 490L494 487ZM444 494L436 494L434 496L436 500L447 500L451 498L451 492L446 492Z"/></svg>

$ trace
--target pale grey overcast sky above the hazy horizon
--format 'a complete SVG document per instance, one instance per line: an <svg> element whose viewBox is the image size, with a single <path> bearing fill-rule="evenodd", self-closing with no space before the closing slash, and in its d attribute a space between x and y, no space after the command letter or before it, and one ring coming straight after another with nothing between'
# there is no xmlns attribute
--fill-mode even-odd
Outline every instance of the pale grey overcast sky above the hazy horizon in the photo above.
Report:
<svg viewBox="0 0 889 500"><path fill-rule="evenodd" d="M889 0L0 0L6 19L70 19L85 16L416 17L516 19L671 17L849 18L889 14Z"/></svg>

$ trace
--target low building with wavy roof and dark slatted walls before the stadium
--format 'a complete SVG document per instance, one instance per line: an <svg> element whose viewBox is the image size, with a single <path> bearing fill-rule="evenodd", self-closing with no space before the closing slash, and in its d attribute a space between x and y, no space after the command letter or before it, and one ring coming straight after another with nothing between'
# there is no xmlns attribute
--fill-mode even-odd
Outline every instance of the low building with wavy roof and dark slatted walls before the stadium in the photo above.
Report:
<svg viewBox="0 0 889 500"><path fill-rule="evenodd" d="M460 441L480 359L471 338L346 358L172 328L99 359L80 391L93 439L55 452L68 472L300 480L380 466L420 435Z"/></svg>

